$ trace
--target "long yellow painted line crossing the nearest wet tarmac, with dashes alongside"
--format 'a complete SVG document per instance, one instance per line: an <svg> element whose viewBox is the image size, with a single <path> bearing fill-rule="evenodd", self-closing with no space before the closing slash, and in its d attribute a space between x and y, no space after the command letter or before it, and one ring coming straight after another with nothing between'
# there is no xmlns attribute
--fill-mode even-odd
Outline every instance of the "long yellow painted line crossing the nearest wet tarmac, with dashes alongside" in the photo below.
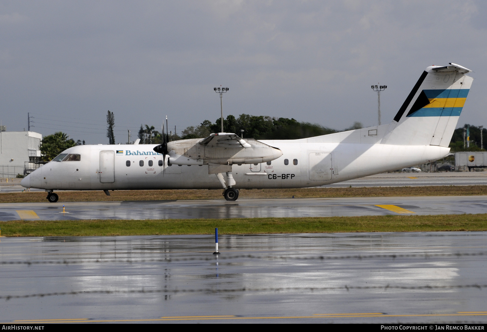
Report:
<svg viewBox="0 0 487 332"><path fill-rule="evenodd" d="M403 314L394 315L382 312L365 312L365 313L315 313L312 316L259 316L259 317L237 317L233 315L226 316L171 316L168 318L154 319L106 319L106 320L88 320L87 318L75 319L43 319L43 320L16 320L14 323L111 323L111 322L149 322L149 321L174 321L174 320L228 320L228 319L297 319L297 318L366 318L366 317L448 317L448 316L487 316L487 312L457 312L457 313L425 313L425 314ZM187 318L191 317L191 318ZM13 323L0 323L13 324Z"/></svg>

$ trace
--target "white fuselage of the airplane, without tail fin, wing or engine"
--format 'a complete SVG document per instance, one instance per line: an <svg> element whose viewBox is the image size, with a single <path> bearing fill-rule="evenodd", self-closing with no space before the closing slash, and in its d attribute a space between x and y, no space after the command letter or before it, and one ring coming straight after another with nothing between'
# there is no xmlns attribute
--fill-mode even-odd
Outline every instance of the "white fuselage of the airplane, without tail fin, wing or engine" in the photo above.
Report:
<svg viewBox="0 0 487 332"><path fill-rule="evenodd" d="M235 188L322 186L427 163L450 152L432 145L262 142L279 148L282 156L259 164L233 164ZM26 176L21 185L47 191L222 188L217 177L208 174L208 165L169 166L162 154L153 151L155 146L75 146L63 154L79 157L51 161Z"/></svg>

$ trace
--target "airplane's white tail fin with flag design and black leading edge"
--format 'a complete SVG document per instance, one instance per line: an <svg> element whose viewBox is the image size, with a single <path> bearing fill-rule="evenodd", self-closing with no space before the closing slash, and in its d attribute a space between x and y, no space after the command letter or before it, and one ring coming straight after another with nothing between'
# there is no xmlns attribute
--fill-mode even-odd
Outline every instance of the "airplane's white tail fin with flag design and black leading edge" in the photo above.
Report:
<svg viewBox="0 0 487 332"><path fill-rule="evenodd" d="M382 144L450 145L473 78L471 70L450 66L426 68L382 139Z"/></svg>

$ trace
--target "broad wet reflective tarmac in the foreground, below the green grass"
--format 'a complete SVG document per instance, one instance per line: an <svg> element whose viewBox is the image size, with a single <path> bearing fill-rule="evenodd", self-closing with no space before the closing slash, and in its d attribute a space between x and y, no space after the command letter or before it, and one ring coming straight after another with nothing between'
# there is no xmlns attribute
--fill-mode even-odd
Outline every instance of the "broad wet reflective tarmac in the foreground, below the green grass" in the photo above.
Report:
<svg viewBox="0 0 487 332"><path fill-rule="evenodd" d="M1 238L0 322L487 321L487 233Z"/></svg>

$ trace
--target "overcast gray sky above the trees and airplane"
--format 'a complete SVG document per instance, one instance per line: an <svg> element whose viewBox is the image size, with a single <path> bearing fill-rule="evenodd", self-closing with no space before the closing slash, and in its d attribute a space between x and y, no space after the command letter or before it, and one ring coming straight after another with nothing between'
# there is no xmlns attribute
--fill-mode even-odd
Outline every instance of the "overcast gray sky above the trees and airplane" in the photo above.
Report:
<svg viewBox="0 0 487 332"><path fill-rule="evenodd" d="M487 1L1 1L0 119L116 142L141 123L178 132L224 116L343 129L392 121L422 71L475 78L459 126L486 125Z"/></svg>

